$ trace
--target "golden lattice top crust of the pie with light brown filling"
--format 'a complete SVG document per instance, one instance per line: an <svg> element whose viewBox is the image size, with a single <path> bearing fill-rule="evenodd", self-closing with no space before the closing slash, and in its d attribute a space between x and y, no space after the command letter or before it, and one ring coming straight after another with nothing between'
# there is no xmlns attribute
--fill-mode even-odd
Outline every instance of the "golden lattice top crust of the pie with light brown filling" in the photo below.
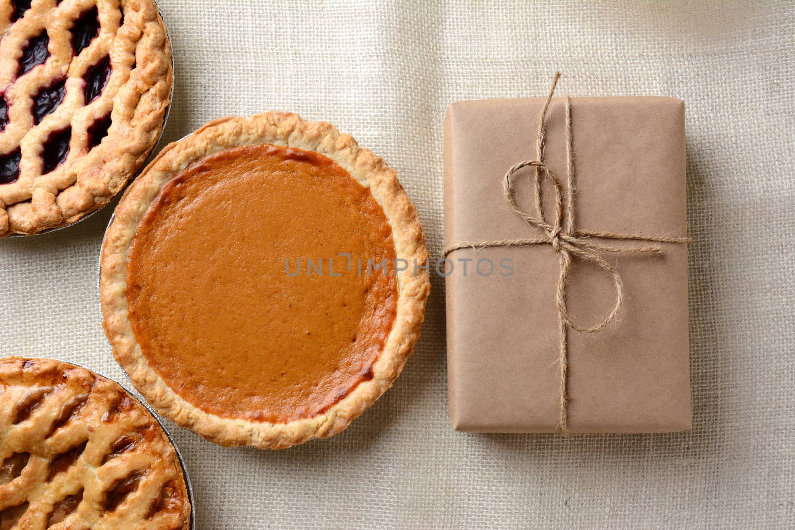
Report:
<svg viewBox="0 0 795 530"><path fill-rule="evenodd" d="M0 359L3 528L187 529L176 450L122 387L68 362Z"/></svg>

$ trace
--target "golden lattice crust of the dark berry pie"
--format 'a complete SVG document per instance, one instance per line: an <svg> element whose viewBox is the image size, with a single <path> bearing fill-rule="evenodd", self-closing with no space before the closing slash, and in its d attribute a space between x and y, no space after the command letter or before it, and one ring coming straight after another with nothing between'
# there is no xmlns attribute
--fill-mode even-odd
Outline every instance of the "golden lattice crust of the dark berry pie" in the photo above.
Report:
<svg viewBox="0 0 795 530"><path fill-rule="evenodd" d="M99 8L99 36L74 57L72 21L94 5ZM44 0L33 2L14 24L9 24L10 14L0 19L0 93L10 102L9 122L0 132L0 154L21 147L18 179L0 184L2 237L67 225L113 199L160 137L173 68L165 25L153 0L74 0L57 5ZM45 29L48 60L17 79L22 48ZM111 76L99 97L86 104L83 76L105 56L111 57ZM34 124L33 96L59 79L66 79L64 100ZM91 148L88 128L108 113L112 122L107 137ZM42 174L45 141L68 126L72 137L66 159Z"/></svg>

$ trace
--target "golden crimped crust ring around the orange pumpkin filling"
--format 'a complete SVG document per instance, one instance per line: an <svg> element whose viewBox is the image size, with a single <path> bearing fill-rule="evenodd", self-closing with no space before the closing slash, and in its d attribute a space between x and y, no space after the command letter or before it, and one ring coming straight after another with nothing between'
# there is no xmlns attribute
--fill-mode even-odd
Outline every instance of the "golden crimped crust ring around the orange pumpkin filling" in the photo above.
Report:
<svg viewBox="0 0 795 530"><path fill-rule="evenodd" d="M138 222L162 185L193 161L235 145L271 143L324 154L351 173L383 208L392 227L397 258L412 264L397 275L398 301L394 327L373 366L373 378L326 412L286 424L227 419L188 403L153 371L142 355L127 319L125 270ZM220 118L183 140L167 145L128 188L108 227L101 257L100 298L103 327L114 357L135 387L164 416L222 445L282 448L342 431L392 385L420 336L425 300L430 290L425 236L417 210L395 172L369 149L324 122L304 122L296 114L268 112L251 118Z"/></svg>

